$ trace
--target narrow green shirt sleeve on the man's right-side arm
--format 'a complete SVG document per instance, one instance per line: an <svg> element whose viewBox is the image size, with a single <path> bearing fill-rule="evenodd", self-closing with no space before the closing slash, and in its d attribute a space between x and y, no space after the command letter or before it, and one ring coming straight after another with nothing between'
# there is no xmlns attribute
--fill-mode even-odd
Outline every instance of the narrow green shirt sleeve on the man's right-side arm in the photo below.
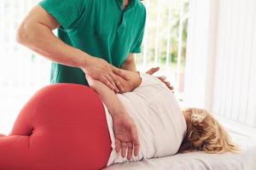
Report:
<svg viewBox="0 0 256 170"><path fill-rule="evenodd" d="M143 24L139 30L138 37L133 44L131 48L131 54L138 54L142 52L142 43L143 43L143 35L145 30L145 24L146 24L146 9L144 8L144 14L143 14Z"/></svg>

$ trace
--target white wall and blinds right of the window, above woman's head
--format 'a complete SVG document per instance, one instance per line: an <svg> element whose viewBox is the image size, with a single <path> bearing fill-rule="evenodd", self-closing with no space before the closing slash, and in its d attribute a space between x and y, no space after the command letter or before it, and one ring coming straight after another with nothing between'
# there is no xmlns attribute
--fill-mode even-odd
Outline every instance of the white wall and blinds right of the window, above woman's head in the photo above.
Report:
<svg viewBox="0 0 256 170"><path fill-rule="evenodd" d="M191 0L186 105L256 127L256 1Z"/></svg>

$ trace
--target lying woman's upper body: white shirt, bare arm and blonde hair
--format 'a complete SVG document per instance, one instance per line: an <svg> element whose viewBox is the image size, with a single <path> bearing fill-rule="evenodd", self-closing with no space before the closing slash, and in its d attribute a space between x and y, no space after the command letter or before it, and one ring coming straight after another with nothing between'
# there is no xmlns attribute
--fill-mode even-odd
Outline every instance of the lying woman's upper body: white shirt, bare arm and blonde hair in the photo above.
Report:
<svg viewBox="0 0 256 170"><path fill-rule="evenodd" d="M172 156L177 151L237 151L228 133L208 111L195 108L181 111L172 91L158 78L142 72L125 72L131 78L126 82L124 94L114 94L102 82L87 77L90 87L107 106L105 112L113 148L108 165ZM126 139L125 144L119 139L119 126L116 123L116 117L122 115L128 117L128 122L136 127L131 129L131 136L136 137L131 137L131 141Z"/></svg>

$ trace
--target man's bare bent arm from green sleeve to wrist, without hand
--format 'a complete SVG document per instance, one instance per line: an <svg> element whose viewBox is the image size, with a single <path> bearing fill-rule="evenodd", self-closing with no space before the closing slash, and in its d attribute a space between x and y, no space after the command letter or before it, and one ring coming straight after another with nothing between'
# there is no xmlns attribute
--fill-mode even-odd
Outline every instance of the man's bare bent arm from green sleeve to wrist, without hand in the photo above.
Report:
<svg viewBox="0 0 256 170"><path fill-rule="evenodd" d="M68 66L84 66L90 55L55 37L52 31L58 27L59 23L44 8L36 6L21 23L16 38L18 42L47 59Z"/></svg>

